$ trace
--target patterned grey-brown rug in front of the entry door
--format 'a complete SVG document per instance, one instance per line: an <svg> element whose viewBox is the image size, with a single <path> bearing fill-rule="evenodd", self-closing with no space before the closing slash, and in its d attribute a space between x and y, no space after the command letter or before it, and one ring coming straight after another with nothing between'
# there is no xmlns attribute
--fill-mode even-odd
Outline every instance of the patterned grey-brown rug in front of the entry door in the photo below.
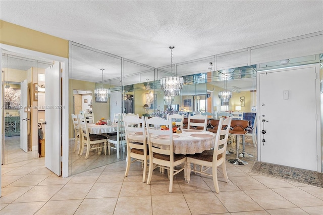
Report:
<svg viewBox="0 0 323 215"><path fill-rule="evenodd" d="M255 162L250 172L287 179L316 187L323 187L323 174L310 170L303 170L264 162Z"/></svg>

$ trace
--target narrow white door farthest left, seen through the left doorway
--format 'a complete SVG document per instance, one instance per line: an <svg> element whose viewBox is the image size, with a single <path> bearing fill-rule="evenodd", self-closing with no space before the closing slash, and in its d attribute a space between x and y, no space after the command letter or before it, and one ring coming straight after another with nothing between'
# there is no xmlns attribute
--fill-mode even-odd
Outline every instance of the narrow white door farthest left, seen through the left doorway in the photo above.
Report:
<svg viewBox="0 0 323 215"><path fill-rule="evenodd" d="M27 79L23 80L20 83L20 148L25 152L28 151L28 123L30 123L30 119L28 119L28 114L25 112L25 108L28 105L28 87L27 87Z"/></svg>

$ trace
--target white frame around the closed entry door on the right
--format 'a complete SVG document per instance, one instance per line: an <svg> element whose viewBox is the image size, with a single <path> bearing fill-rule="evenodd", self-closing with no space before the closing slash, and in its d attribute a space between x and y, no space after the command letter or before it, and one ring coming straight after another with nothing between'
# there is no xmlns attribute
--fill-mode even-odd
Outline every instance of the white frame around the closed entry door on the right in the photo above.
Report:
<svg viewBox="0 0 323 215"><path fill-rule="evenodd" d="M317 172L321 173L322 172L322 152L321 152L321 141L320 141L320 136L321 136L321 113L320 113L320 70L319 70L319 64L311 64L311 65L303 65L303 66L295 66L295 67L289 67L289 68L280 68L280 69L273 69L273 70L264 70L264 71L259 71L257 72L257 106L258 106L258 112L260 110L260 84L259 84L259 76L260 74L266 74L266 73L271 73L271 72L279 72L279 71L290 71L290 70L295 70L295 69L304 69L308 67L316 67L316 80L315 80L315 93L316 93L316 151L317 151ZM306 87L306 86L305 86ZM295 117L301 117L300 116L295 116ZM257 113L257 124L261 125L261 119L263 117L260 116L260 114ZM301 118L300 118L301 119ZM260 133L260 126L258 126L258 132ZM258 144L262 144L261 140L262 135L258 135L257 141ZM257 148L257 160L261 160L261 153L260 153L260 146Z"/></svg>

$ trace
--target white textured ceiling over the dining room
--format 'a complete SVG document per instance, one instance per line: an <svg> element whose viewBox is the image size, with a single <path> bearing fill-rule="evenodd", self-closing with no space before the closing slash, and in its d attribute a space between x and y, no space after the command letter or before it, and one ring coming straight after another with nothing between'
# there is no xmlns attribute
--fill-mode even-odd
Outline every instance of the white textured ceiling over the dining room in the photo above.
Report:
<svg viewBox="0 0 323 215"><path fill-rule="evenodd" d="M170 45L179 63L323 30L323 1L2 0L0 12L4 21L152 67L170 65ZM86 79L100 81L99 68Z"/></svg>

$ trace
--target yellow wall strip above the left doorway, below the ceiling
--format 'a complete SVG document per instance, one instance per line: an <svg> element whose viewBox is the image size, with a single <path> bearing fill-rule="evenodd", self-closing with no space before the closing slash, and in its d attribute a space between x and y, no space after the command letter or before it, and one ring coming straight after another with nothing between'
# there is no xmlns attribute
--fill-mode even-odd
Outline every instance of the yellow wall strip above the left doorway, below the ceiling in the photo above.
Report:
<svg viewBox="0 0 323 215"><path fill-rule="evenodd" d="M69 58L69 41L0 20L0 43Z"/></svg>

